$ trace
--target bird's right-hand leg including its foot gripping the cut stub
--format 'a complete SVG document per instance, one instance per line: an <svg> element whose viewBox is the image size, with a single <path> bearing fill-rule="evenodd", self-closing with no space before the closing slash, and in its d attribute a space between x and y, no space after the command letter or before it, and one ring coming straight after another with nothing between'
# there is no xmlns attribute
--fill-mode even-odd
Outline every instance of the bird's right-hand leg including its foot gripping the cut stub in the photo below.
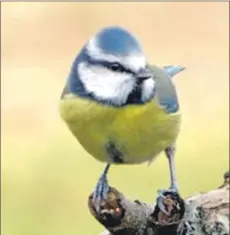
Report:
<svg viewBox="0 0 230 235"><path fill-rule="evenodd" d="M165 149L165 154L166 157L168 158L169 161L169 171L170 171L170 187L168 190L159 190L159 197L157 198L157 204L159 206L159 208L165 212L166 214L168 214L168 212L165 210L165 206L164 206L164 199L165 193L178 193L178 187L177 187L177 180L176 180L176 169L175 169L175 147L174 146L170 146L167 147Z"/></svg>

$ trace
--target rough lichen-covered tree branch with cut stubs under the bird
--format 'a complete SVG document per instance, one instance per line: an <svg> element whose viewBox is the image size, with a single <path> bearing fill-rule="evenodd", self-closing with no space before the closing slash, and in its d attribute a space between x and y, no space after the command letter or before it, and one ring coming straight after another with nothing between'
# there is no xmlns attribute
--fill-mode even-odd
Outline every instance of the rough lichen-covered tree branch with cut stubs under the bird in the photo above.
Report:
<svg viewBox="0 0 230 235"><path fill-rule="evenodd" d="M156 205L131 201L110 187L108 199L97 213L88 200L92 215L107 231L101 235L228 235L229 172L217 189L183 200L175 193L165 193L167 214Z"/></svg>

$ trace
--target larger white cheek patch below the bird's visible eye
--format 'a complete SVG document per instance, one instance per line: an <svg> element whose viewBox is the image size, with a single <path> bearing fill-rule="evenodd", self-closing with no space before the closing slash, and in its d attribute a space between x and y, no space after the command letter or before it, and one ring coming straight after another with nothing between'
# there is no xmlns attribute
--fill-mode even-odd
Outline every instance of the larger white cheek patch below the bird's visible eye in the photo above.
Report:
<svg viewBox="0 0 230 235"><path fill-rule="evenodd" d="M108 100L116 105L124 104L135 86L129 74L112 72L99 66L79 64L78 72L85 89L97 99Z"/></svg>

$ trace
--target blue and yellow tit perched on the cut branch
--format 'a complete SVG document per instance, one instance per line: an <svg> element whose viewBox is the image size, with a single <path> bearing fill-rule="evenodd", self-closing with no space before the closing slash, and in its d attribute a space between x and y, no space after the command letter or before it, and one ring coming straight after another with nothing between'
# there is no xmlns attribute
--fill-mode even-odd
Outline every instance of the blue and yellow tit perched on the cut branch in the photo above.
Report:
<svg viewBox="0 0 230 235"><path fill-rule="evenodd" d="M152 162L161 152L169 161L168 190L178 192L174 155L181 114L172 77L184 69L148 63L138 39L121 26L102 28L75 56L60 116L85 151L106 163L92 196L97 211L107 199L112 164Z"/></svg>

